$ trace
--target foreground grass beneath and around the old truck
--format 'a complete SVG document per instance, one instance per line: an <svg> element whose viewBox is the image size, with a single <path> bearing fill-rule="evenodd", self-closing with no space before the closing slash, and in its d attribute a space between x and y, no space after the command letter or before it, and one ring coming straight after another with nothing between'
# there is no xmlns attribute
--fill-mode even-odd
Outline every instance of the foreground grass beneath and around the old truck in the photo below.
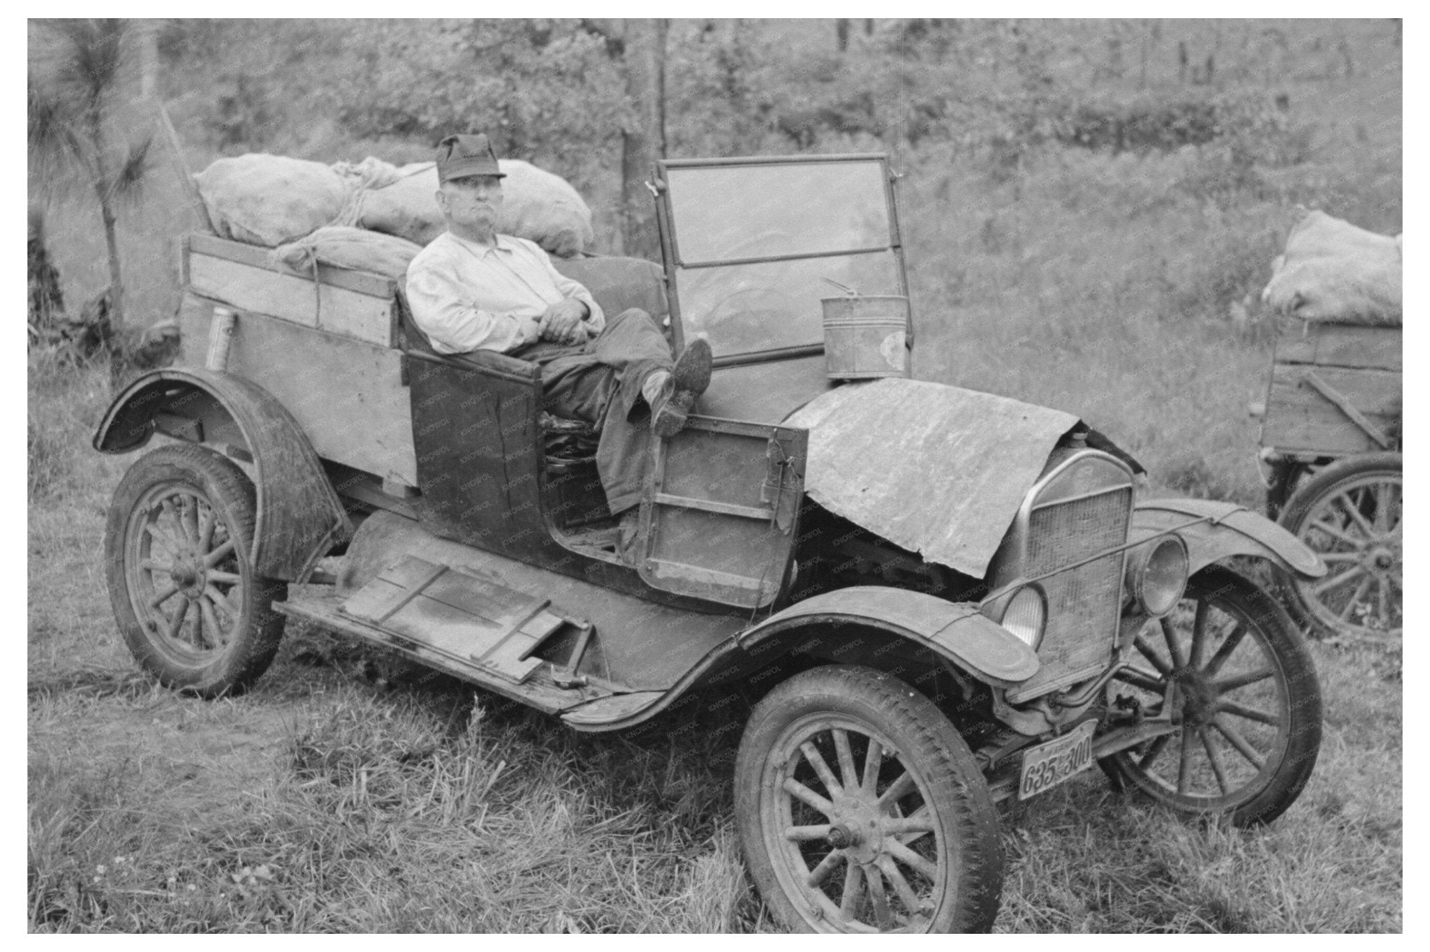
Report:
<svg viewBox="0 0 1430 952"><path fill-rule="evenodd" d="M176 696L120 643L96 552L124 459L89 452L107 370L31 375L33 931L751 932L738 720L575 735L290 626L243 698ZM1399 655L1314 646L1326 740L1270 829L1187 820L1095 770L1010 812L1007 932L1394 932ZM695 725L692 728L692 725Z"/></svg>

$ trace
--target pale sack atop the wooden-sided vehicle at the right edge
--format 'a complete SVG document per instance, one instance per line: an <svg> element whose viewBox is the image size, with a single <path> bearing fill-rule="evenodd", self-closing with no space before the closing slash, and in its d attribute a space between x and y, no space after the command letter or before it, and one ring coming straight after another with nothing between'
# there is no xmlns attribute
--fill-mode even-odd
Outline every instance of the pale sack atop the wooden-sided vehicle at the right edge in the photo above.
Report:
<svg viewBox="0 0 1430 952"><path fill-rule="evenodd" d="M1303 320L1399 327L1400 287L1399 234L1311 212L1291 229L1261 300Z"/></svg>

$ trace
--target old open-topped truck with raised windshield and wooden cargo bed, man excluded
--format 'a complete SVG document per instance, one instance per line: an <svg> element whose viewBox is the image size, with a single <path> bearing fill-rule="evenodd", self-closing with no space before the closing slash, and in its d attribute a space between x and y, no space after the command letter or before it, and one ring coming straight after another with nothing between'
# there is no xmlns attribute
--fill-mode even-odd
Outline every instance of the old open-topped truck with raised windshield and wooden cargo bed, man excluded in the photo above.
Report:
<svg viewBox="0 0 1430 952"><path fill-rule="evenodd" d="M1316 672L1224 560L1314 579L1314 555L1230 503L1137 499L1071 415L832 382L827 282L907 296L885 157L671 160L652 187L664 267L558 263L716 357L654 450L633 566L593 437L541 412L533 365L432 353L390 277L192 237L184 366L134 380L94 437L163 437L106 537L139 662L239 692L309 619L576 730L744 685L742 845L799 929L990 928L995 803L1093 762L1191 813L1286 810L1320 745ZM891 367L912 330L884 340Z"/></svg>

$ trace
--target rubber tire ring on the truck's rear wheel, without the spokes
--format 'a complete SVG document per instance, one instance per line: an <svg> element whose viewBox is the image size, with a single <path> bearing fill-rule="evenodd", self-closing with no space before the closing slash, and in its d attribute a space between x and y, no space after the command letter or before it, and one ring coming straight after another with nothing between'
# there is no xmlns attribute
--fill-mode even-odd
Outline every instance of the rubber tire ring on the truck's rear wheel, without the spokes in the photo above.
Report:
<svg viewBox="0 0 1430 952"><path fill-rule="evenodd" d="M196 665L184 663L156 642L130 602L124 559L127 529L136 516L136 506L153 486L166 482L184 483L202 495L226 522L230 536L242 540L240 552L252 550L256 503L253 483L243 470L213 450L192 443L152 450L129 467L109 507L104 573L114 619L134 660L166 688L200 698L240 695L267 670L277 653L286 619L272 605L287 596L287 583L253 576L252 566L240 557L243 603L226 650L207 663Z"/></svg>

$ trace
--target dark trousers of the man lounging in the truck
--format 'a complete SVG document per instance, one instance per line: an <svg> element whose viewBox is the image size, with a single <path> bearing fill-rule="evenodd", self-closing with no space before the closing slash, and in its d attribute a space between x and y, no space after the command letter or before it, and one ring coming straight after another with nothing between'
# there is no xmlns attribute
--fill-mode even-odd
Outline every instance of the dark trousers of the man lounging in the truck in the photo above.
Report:
<svg viewBox="0 0 1430 952"><path fill-rule="evenodd" d="M641 399L641 385L652 370L675 366L671 346L651 316L632 307L608 317L605 330L583 344L538 340L512 356L541 365L546 412L601 430L596 472L612 515L639 503L651 450L649 407Z"/></svg>

